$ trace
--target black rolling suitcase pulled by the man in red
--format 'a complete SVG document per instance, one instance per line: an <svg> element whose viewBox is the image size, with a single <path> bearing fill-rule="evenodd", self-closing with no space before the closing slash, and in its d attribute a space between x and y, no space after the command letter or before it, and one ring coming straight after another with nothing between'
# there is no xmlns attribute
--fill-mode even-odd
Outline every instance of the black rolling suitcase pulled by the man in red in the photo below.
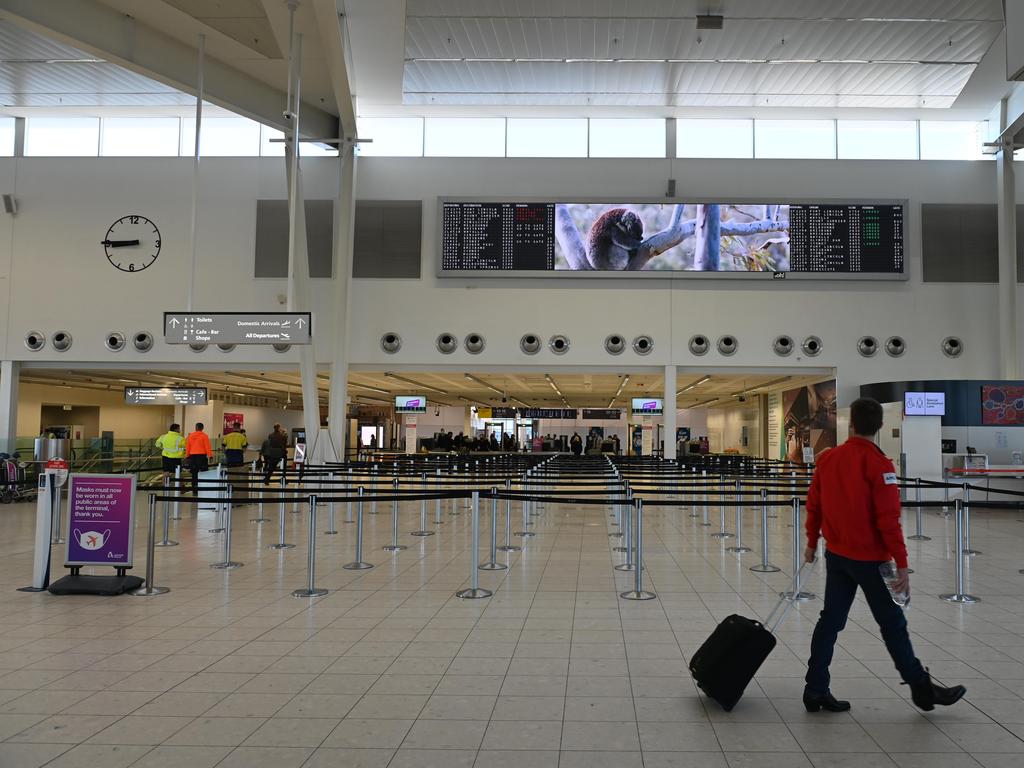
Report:
<svg viewBox="0 0 1024 768"><path fill-rule="evenodd" d="M803 574L804 568L801 568ZM751 680L775 648L772 633L785 618L793 602L782 598L765 620L768 629L754 618L733 613L715 628L697 652L690 658L690 674L697 687L714 698L726 712L742 697Z"/></svg>

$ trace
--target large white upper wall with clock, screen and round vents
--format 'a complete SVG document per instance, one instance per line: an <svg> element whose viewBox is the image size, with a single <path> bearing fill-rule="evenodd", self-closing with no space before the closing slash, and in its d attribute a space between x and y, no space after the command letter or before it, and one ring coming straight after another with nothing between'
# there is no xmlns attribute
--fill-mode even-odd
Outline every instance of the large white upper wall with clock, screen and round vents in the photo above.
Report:
<svg viewBox="0 0 1024 768"><path fill-rule="evenodd" d="M353 284L351 361L380 370L415 371L531 369L624 372L676 364L686 371L743 371L836 367L840 404L861 383L893 380L982 378L997 375L994 286L921 283L922 203L992 203L994 164L969 162L770 161L770 160L359 160L358 195L366 199L420 199L424 203L421 280L359 280ZM337 189L338 162L304 161L307 198L330 198ZM255 280L255 201L285 195L284 162L211 158L203 163L196 306L208 309L278 309L285 281ZM0 160L0 184L18 200L16 217L0 216L0 357L119 367L223 370L242 362L296 364L292 354L267 348L216 349L197 354L158 342L145 354L113 353L102 346L108 331L150 330L160 337L162 312L181 308L189 263L189 173L187 159L29 158ZM16 182L15 182L16 176ZM717 199L907 199L907 282L746 282L723 280L438 279L434 275L437 196L509 200L659 198L666 179L678 180L682 198ZM1024 188L1024 179L1021 180ZM1022 194L1024 197L1024 194ZM157 264L137 274L114 269L98 242L116 218L139 213L161 228L164 250ZM965 254L970 257L970 254ZM332 356L337 331L333 281L315 281L315 354ZM595 311L595 307L600 307ZM30 329L47 336L59 329L75 337L73 348L31 353L23 345ZM403 338L387 355L385 332ZM440 355L438 333L483 334L486 349ZM564 333L570 351L522 354L526 332L548 338ZM646 357L632 349L609 357L609 333L655 340ZM732 357L710 352L694 357L687 340L733 334ZM771 340L787 333L798 341L820 336L823 352L813 359L776 357ZM906 354L857 354L858 337L903 336ZM949 334L964 338L955 360L939 350Z"/></svg>

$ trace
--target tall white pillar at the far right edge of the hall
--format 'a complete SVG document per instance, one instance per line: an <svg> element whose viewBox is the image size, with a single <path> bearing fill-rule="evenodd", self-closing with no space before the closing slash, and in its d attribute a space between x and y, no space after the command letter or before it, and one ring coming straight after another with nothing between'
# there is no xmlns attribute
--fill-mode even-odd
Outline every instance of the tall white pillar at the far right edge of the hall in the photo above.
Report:
<svg viewBox="0 0 1024 768"><path fill-rule="evenodd" d="M999 105L999 130L1007 128L1007 99ZM1017 315L1017 190L1014 186L1014 141L1005 136L995 156L999 244L999 377L1020 378Z"/></svg>

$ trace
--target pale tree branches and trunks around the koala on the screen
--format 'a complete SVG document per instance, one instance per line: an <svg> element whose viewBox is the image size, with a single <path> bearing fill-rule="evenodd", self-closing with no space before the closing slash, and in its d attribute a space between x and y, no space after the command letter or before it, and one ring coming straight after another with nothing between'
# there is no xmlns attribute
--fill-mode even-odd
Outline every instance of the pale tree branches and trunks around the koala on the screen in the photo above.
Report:
<svg viewBox="0 0 1024 768"><path fill-rule="evenodd" d="M769 214L768 206L765 206L765 218L755 221L723 222L721 209L722 207L718 204L699 205L697 206L696 218L684 220L683 206L677 205L672 212L669 226L649 238L645 238L634 249L629 250L629 258L625 262L625 266L616 266L617 263L622 263L622 260L610 257L603 250L604 246L608 244L610 244L609 248L622 248L624 241L620 233L613 232L609 238L602 238L600 237L601 232L595 233L592 230L590 233L591 248L588 250L587 244L572 221L568 206L564 203L555 206L555 238L570 269L636 271L643 269L652 258L665 253L670 248L675 248L687 238L696 237L694 268L699 271L718 271L723 237L785 231L788 228L787 222L775 220L778 216L777 207ZM626 213L629 212L622 215L625 216ZM609 219L602 216L594 223L594 226L614 226L616 223L614 217Z"/></svg>

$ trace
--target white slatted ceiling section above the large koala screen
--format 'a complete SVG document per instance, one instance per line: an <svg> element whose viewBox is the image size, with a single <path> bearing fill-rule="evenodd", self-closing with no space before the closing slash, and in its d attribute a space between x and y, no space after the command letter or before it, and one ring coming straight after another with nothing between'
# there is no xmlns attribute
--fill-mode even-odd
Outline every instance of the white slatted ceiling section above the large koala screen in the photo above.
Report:
<svg viewBox="0 0 1024 768"><path fill-rule="evenodd" d="M1002 30L999 0L711 5L408 0L403 101L935 110Z"/></svg>

